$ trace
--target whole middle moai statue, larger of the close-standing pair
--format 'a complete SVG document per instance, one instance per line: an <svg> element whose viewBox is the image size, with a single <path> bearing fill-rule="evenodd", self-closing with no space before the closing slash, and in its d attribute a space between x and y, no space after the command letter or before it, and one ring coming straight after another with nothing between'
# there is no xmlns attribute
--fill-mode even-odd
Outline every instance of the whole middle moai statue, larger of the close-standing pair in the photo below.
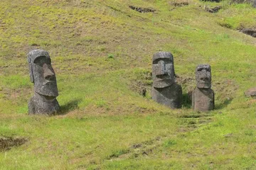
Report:
<svg viewBox="0 0 256 170"><path fill-rule="evenodd" d="M153 56L153 86L151 96L154 101L170 108L181 108L182 89L174 77L174 57L170 52L156 52Z"/></svg>

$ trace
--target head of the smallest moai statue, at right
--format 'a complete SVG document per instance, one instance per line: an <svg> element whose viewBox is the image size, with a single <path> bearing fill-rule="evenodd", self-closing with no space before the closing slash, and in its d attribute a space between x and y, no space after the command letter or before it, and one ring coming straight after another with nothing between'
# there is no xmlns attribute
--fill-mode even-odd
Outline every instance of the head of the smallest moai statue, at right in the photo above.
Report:
<svg viewBox="0 0 256 170"><path fill-rule="evenodd" d="M210 89L211 72L209 64L199 64L196 67L196 86L199 89Z"/></svg>

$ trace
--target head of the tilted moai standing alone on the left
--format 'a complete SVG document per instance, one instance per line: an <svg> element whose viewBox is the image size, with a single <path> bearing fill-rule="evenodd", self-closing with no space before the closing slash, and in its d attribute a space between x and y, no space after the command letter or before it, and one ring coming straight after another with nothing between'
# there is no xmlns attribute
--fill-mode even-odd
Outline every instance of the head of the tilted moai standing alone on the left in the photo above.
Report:
<svg viewBox="0 0 256 170"><path fill-rule="evenodd" d="M31 82L36 93L46 97L58 96L55 72L50 55L45 50L32 50L28 53L28 67Z"/></svg>

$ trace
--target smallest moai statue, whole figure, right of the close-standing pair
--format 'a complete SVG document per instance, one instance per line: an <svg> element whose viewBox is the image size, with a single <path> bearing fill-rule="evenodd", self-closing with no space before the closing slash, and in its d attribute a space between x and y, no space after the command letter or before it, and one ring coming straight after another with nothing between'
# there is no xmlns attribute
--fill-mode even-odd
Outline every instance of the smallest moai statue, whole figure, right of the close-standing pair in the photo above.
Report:
<svg viewBox="0 0 256 170"><path fill-rule="evenodd" d="M214 91L211 87L210 65L199 64L196 67L196 89L192 94L194 111L207 112L214 109Z"/></svg>

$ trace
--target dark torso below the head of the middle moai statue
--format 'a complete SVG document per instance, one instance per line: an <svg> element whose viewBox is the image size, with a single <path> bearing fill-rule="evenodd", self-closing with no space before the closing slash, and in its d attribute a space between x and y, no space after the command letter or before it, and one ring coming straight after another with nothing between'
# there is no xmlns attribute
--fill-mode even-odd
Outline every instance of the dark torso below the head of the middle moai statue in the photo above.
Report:
<svg viewBox="0 0 256 170"><path fill-rule="evenodd" d="M170 108L181 108L182 89L178 84L172 84L161 89L152 87L151 96L157 103Z"/></svg>

